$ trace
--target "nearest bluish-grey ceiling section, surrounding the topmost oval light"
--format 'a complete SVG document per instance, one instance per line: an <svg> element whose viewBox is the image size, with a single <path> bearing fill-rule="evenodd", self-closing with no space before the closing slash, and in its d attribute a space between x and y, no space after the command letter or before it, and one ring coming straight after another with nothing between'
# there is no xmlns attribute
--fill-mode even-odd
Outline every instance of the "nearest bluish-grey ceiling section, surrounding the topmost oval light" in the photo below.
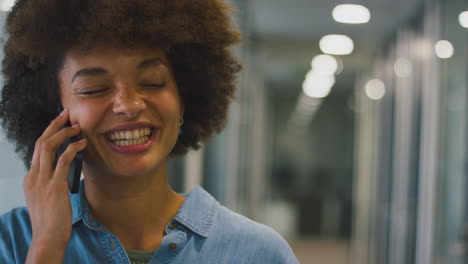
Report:
<svg viewBox="0 0 468 264"><path fill-rule="evenodd" d="M271 38L316 39L330 33L348 34L356 40L383 36L394 31L419 7L421 0L250 0L251 26L256 35ZM348 25L333 20L339 4L362 4L371 11L371 21Z"/></svg>

